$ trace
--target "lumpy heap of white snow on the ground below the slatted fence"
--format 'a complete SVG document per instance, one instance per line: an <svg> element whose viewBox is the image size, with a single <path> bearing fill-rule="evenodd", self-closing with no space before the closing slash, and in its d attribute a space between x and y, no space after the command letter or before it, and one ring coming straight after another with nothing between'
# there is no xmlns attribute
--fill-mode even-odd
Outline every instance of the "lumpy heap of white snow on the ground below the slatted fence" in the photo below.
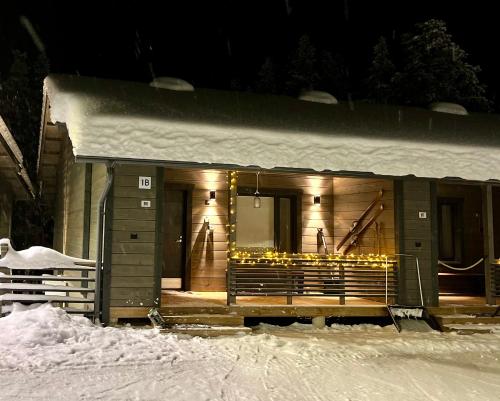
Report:
<svg viewBox="0 0 500 401"><path fill-rule="evenodd" d="M50 304L14 304L0 319L0 333L0 371L141 364L194 351L156 330L102 328Z"/></svg>

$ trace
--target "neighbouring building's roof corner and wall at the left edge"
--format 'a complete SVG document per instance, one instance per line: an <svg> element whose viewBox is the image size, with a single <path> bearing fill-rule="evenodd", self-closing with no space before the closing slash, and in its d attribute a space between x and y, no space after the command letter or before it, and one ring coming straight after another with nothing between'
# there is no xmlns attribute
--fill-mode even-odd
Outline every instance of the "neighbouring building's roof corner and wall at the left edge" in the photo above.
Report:
<svg viewBox="0 0 500 401"><path fill-rule="evenodd" d="M14 202L34 197L21 150L0 116L0 238L10 237Z"/></svg>

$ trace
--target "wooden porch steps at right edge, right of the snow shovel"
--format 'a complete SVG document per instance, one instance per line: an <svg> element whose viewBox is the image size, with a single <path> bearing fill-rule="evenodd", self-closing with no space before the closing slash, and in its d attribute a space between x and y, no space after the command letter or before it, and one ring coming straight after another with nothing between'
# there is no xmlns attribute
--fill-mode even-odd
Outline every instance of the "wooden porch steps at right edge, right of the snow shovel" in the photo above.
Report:
<svg viewBox="0 0 500 401"><path fill-rule="evenodd" d="M444 332L458 334L500 333L500 316L438 315L434 318Z"/></svg>

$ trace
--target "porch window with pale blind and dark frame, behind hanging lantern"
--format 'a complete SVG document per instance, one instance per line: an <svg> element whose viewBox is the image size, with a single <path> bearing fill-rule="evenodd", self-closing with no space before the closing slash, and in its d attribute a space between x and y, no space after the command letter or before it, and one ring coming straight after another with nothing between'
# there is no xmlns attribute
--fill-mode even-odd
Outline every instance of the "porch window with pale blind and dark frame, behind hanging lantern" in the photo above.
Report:
<svg viewBox="0 0 500 401"><path fill-rule="evenodd" d="M254 208L249 190L238 189L236 203L236 246L272 248L279 252L297 252L298 219L296 194L261 192L261 206Z"/></svg>

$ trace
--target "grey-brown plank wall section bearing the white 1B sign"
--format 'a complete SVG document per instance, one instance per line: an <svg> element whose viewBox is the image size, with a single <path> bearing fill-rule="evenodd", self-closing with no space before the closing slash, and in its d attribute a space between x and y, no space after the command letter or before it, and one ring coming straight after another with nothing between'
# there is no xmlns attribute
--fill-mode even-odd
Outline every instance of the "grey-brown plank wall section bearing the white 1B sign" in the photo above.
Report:
<svg viewBox="0 0 500 401"><path fill-rule="evenodd" d="M111 223L111 307L150 307L158 304L154 299L156 171L155 167L150 166L115 168ZM151 177L151 189L138 188L139 176ZM150 200L151 207L142 208L141 200ZM137 234L137 239L132 239L131 234Z"/></svg>

